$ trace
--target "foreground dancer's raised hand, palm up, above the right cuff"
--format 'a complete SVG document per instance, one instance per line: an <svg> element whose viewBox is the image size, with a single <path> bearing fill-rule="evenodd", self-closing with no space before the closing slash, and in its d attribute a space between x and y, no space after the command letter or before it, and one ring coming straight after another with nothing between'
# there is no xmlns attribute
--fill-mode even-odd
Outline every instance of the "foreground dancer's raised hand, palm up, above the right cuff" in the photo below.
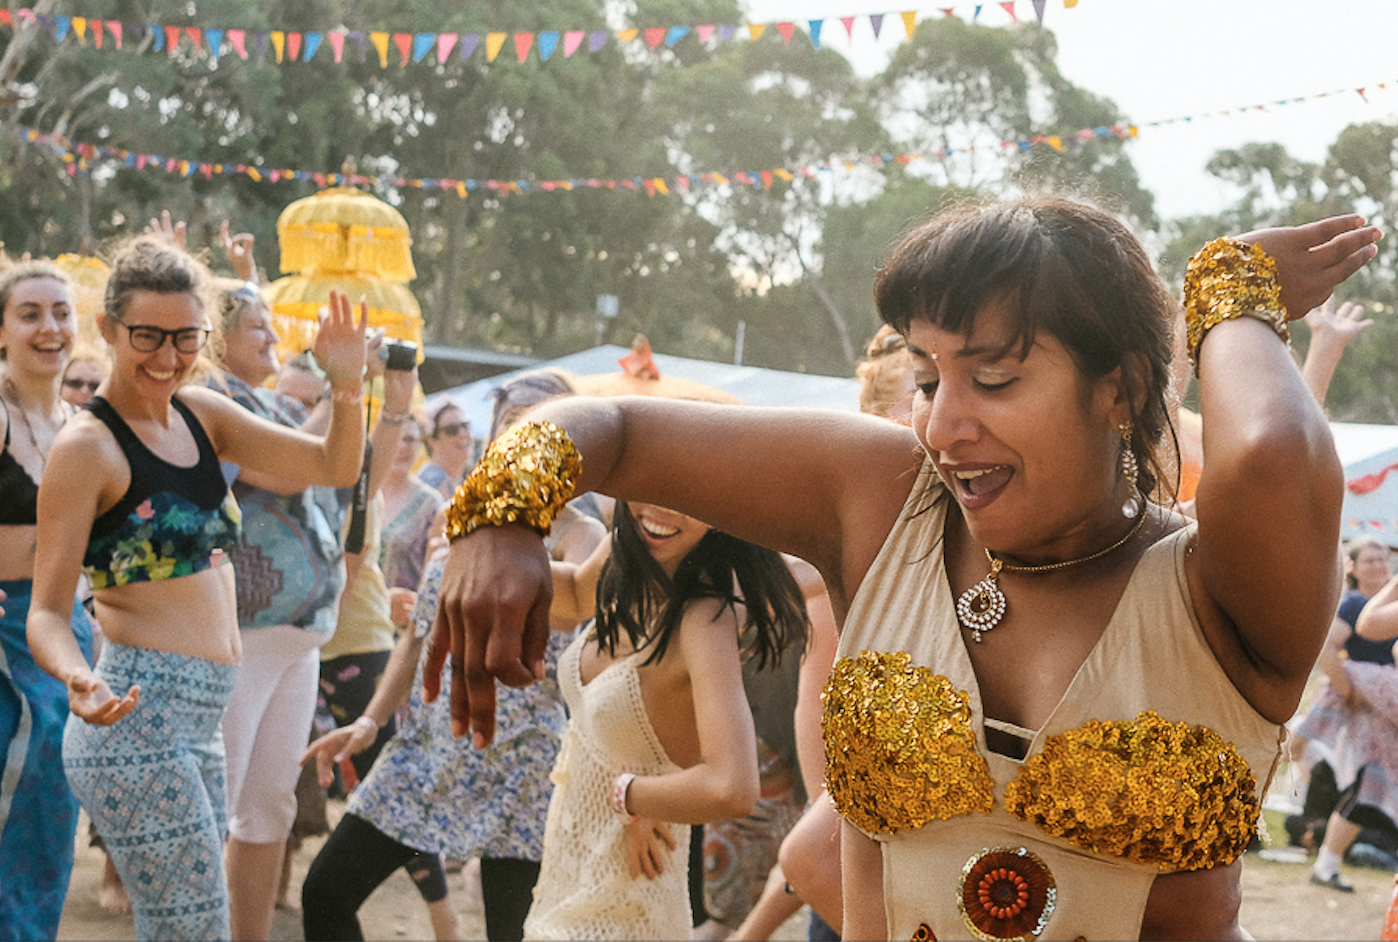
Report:
<svg viewBox="0 0 1398 942"><path fill-rule="evenodd" d="M1237 236L1255 242L1276 260L1282 305L1292 320L1329 298L1335 285L1364 267L1383 233L1360 215L1336 215L1318 222L1257 229Z"/></svg>

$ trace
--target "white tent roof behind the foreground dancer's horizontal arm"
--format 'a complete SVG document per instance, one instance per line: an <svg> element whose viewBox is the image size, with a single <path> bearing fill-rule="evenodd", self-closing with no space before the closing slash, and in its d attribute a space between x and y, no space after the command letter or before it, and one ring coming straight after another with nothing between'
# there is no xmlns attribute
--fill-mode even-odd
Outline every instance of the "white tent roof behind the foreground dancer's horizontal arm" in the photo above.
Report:
<svg viewBox="0 0 1398 942"><path fill-rule="evenodd" d="M619 373L618 361L630 351L625 347L603 345L568 356L559 356L527 369L510 370L488 379L454 386L428 397L428 408L443 397L450 398L471 422L471 433L477 440L488 435L491 428L491 390L495 390L520 373L533 369L563 369L575 376L597 373ZM759 366L734 366L713 363L703 359L668 356L654 354L656 368L661 376L675 376L713 386L731 393L748 405L800 405L856 412L860 408L860 384L853 377L818 376L814 373L787 373Z"/></svg>

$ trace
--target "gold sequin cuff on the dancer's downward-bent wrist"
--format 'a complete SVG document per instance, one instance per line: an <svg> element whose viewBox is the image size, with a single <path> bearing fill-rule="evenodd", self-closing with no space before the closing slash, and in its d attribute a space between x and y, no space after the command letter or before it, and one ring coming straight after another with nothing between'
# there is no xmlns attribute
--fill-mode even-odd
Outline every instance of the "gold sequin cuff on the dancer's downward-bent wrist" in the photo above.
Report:
<svg viewBox="0 0 1398 942"><path fill-rule="evenodd" d="M583 460L568 432L528 422L498 437L456 489L446 509L446 535L523 523L545 537L573 496Z"/></svg>

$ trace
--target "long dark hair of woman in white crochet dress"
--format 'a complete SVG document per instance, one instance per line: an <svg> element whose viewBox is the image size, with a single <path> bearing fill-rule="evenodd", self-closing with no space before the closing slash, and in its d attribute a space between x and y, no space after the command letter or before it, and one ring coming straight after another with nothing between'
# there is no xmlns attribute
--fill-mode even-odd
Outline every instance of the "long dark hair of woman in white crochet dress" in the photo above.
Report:
<svg viewBox="0 0 1398 942"><path fill-rule="evenodd" d="M611 542L597 583L596 623L597 642L608 654L615 654L625 632L637 651L651 648L643 664L656 664L670 648L685 608L699 598L747 608L740 637L758 669L780 664L788 647L805 648L805 600L780 553L710 530L671 580L646 549L625 500L617 502Z"/></svg>

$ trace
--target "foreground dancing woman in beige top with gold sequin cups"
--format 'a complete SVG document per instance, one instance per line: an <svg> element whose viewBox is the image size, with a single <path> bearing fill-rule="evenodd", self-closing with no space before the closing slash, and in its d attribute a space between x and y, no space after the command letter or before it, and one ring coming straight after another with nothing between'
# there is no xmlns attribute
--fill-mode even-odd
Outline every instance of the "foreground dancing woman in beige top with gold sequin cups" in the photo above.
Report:
<svg viewBox="0 0 1398 942"><path fill-rule="evenodd" d="M540 410L582 456L579 489L823 574L846 938L1243 938L1239 857L1339 586L1341 467L1286 321L1378 238L1338 217L1192 260L1197 523L1170 499L1176 303L1127 228L1072 200L958 205L893 249L875 302L913 356L911 429ZM492 486L556 485L535 467ZM537 528L477 526L446 567L428 679L450 653L454 721L480 741L493 678L537 674Z"/></svg>

